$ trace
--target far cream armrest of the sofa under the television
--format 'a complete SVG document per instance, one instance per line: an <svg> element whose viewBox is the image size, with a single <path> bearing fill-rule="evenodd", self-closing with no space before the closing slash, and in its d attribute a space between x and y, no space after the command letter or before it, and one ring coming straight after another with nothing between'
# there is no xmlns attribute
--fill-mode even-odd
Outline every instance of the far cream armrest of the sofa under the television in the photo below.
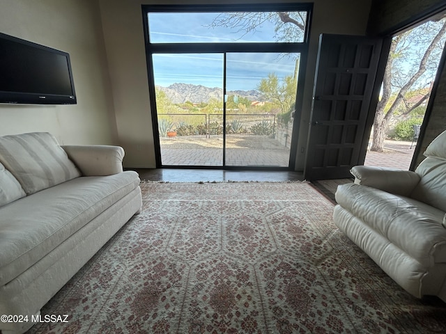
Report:
<svg viewBox="0 0 446 334"><path fill-rule="evenodd" d="M63 145L63 150L84 176L105 176L123 171L124 149L112 145Z"/></svg>

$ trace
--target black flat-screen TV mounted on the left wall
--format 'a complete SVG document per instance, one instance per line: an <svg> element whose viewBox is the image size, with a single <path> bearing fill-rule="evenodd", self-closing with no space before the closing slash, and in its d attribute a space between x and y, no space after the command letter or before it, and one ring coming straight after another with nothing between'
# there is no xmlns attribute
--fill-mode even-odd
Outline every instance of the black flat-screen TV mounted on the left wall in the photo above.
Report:
<svg viewBox="0 0 446 334"><path fill-rule="evenodd" d="M0 33L0 103L76 104L70 55Z"/></svg>

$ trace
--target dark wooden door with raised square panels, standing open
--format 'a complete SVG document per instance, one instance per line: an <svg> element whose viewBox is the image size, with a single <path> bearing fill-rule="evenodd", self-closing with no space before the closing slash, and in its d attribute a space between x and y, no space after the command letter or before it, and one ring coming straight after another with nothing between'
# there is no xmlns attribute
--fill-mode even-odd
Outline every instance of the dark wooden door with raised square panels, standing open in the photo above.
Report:
<svg viewBox="0 0 446 334"><path fill-rule="evenodd" d="M306 180L351 177L351 167L364 163L376 108L372 97L377 100L376 87L382 81L378 71L382 47L381 38L321 35Z"/></svg>

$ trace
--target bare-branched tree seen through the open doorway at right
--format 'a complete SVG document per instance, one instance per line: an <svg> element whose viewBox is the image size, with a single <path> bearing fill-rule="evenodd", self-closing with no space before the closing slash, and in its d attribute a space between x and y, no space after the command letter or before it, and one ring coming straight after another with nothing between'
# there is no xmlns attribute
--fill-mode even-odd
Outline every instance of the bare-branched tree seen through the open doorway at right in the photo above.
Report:
<svg viewBox="0 0 446 334"><path fill-rule="evenodd" d="M445 33L446 19L442 19L438 22L427 22L392 39L384 72L382 95L374 119L372 151L383 151L387 125L395 111L406 102L410 91L416 89L415 86L420 85L423 78L429 77L426 74L430 74L431 77L436 72L437 65L433 64L438 64L438 61L434 62L433 59L440 58L439 54L445 43ZM413 49L415 52L410 51ZM430 93L431 89L426 90L424 96L405 113L410 113L420 106L429 98Z"/></svg>

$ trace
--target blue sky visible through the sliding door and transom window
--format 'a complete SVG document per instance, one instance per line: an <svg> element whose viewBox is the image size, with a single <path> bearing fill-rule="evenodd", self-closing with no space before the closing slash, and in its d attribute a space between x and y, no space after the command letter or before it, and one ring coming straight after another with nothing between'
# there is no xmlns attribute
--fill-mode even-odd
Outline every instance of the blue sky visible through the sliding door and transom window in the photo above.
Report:
<svg viewBox="0 0 446 334"><path fill-rule="evenodd" d="M209 28L218 13L151 13L151 42L275 42L275 25L264 22L254 33L243 35L228 28ZM256 89L261 79L274 72L292 75L295 56L272 53L227 54L227 90ZM223 87L223 54L154 54L155 85L175 83Z"/></svg>

